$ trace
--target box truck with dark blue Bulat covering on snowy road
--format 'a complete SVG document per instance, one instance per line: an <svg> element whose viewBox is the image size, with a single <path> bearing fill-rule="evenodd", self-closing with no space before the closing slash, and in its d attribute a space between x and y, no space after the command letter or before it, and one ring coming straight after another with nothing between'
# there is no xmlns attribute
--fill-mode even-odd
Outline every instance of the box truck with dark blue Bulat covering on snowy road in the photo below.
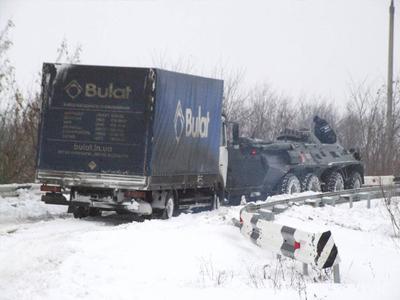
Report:
<svg viewBox="0 0 400 300"><path fill-rule="evenodd" d="M222 95L222 80L157 68L45 63L42 201L77 218L217 208L228 158Z"/></svg>

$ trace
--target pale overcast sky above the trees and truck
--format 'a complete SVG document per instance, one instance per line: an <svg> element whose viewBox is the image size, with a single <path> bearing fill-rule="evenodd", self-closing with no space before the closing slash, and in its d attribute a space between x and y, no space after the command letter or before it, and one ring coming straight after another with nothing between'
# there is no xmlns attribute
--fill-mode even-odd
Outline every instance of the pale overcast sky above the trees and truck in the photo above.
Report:
<svg viewBox="0 0 400 300"><path fill-rule="evenodd" d="M155 56L181 57L197 73L222 64L244 69L249 86L267 82L287 95L344 103L351 82L386 80L389 2L0 0L0 28L7 19L16 25L10 58L25 87L66 38L82 45L85 64L152 66Z"/></svg>

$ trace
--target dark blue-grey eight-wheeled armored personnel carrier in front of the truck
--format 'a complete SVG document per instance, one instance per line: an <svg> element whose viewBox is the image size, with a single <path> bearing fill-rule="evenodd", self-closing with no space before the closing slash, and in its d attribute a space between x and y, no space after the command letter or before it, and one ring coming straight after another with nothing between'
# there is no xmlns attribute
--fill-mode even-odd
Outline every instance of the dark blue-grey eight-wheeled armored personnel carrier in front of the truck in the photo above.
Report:
<svg viewBox="0 0 400 300"><path fill-rule="evenodd" d="M302 191L339 191L364 183L358 151L336 142L336 134L323 119L311 130L285 129L274 142L239 138L233 124L228 146L227 194L231 203L246 198ZM318 137L317 137L318 136Z"/></svg>

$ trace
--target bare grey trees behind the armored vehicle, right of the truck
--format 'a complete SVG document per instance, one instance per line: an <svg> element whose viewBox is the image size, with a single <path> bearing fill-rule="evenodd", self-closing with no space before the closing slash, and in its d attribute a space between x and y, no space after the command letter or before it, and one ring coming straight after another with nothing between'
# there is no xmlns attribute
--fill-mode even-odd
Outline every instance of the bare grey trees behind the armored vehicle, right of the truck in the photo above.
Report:
<svg viewBox="0 0 400 300"><path fill-rule="evenodd" d="M285 127L310 128L318 115L335 129L346 148L359 148L368 175L400 174L400 84L394 82L392 140L386 138L386 87L372 90L365 84L349 90L345 109L323 98L289 99L268 85L237 92L229 82L225 91L225 112L241 124L247 136L273 140ZM235 84L237 78L232 80ZM235 85L234 84L234 85ZM229 90L233 89L234 93Z"/></svg>

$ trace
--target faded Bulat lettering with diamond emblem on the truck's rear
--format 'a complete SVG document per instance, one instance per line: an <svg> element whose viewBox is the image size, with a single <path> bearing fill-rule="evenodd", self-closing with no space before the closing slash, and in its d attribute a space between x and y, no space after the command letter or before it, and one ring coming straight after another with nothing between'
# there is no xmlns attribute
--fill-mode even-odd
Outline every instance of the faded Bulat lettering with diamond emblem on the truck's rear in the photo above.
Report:
<svg viewBox="0 0 400 300"><path fill-rule="evenodd" d="M115 87L113 83L110 83L107 87L99 87L95 83L87 83L83 89L81 85L76 81L72 80L66 87L65 91L72 99L78 97L82 92L88 98L111 98L111 99L129 99L132 89L129 86L124 88Z"/></svg>

